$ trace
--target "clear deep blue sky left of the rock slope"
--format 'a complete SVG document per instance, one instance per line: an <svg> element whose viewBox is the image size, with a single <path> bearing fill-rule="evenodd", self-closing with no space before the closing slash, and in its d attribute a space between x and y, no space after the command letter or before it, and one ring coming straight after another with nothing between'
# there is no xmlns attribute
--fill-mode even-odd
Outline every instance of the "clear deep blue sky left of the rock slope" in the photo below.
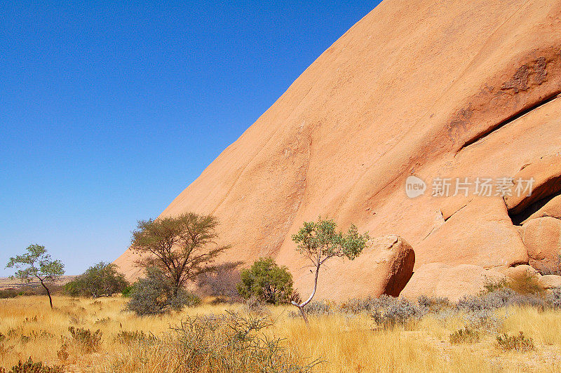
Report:
<svg viewBox="0 0 561 373"><path fill-rule="evenodd" d="M2 1L0 276L112 261L379 1Z"/></svg>

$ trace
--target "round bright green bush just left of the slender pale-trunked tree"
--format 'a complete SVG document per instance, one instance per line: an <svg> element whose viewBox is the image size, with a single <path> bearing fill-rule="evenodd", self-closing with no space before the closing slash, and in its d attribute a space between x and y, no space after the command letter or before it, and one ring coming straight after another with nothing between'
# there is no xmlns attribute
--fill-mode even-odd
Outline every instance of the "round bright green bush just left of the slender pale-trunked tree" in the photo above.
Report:
<svg viewBox="0 0 561 373"><path fill-rule="evenodd" d="M285 266L278 266L272 258L261 258L250 269L240 273L241 283L236 287L245 299L252 295L271 304L290 302L292 274Z"/></svg>

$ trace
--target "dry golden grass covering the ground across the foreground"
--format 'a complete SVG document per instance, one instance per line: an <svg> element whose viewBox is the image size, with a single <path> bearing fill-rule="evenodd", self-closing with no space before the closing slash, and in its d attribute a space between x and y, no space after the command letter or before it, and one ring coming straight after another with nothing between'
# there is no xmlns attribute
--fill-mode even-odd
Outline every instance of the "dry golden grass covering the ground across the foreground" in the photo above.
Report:
<svg viewBox="0 0 561 373"><path fill-rule="evenodd" d="M29 356L49 365L65 365L69 372L166 372L165 351L140 350L115 340L123 330L144 331L156 337L168 332L185 316L240 311L241 306L203 304L182 313L139 318L122 311L121 297L71 299L55 297L55 310L45 297L0 299L0 366L11 367ZM299 362L320 358L325 362L316 372L503 372L561 370L561 312L534 308L509 308L500 311L505 318L496 332L480 331L474 344L450 344L450 333L464 326L460 316L425 317L393 330L376 329L370 318L359 316L322 316L302 320L289 318L290 307L271 307L276 323L266 330L285 339L287 351ZM103 333L100 348L85 352L78 344L67 342L68 358L61 360L63 341L69 339L69 326ZM524 332L534 339L536 349L503 352L496 334ZM22 337L25 336L25 337ZM62 356L64 358L64 356Z"/></svg>

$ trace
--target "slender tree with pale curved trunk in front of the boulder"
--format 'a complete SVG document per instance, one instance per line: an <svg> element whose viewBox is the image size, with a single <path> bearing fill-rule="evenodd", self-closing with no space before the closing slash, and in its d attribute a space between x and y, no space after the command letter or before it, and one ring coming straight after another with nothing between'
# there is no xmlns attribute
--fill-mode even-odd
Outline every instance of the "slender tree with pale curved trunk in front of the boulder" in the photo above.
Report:
<svg viewBox="0 0 561 373"><path fill-rule="evenodd" d="M318 222L304 222L304 226L292 236L292 240L297 244L297 250L311 262L311 267L316 271L310 297L305 301L292 300L292 304L299 308L306 324L308 318L306 318L304 306L309 304L316 294L321 266L332 257L355 259L363 252L367 240L370 239L367 232L358 234L358 229L354 224L351 224L346 234L336 231L336 229L337 224L332 219L324 220L318 217Z"/></svg>

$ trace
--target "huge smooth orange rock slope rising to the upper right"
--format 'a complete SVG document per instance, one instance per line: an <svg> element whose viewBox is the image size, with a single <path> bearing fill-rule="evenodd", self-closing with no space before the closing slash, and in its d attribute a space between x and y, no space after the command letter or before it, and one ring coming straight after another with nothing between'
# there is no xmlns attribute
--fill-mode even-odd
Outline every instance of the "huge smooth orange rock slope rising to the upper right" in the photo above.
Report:
<svg viewBox="0 0 561 373"><path fill-rule="evenodd" d="M462 269L447 270L452 281L465 268L527 264L515 225L560 192L560 93L560 1L384 0L162 215L216 215L233 246L225 262L274 257L302 293L308 269L290 236L318 215L403 237L415 252L412 281L421 268ZM412 175L426 188L416 198ZM505 194L510 177L533 177L534 194ZM486 178L490 196L477 184ZM432 196L442 180L449 193ZM116 260L131 277L133 259ZM358 273L371 268L357 263ZM321 297L345 294L334 276L325 273L334 287ZM445 285L427 279L420 290ZM353 295L374 291L370 278L354 280ZM438 294L457 294L445 288Z"/></svg>

